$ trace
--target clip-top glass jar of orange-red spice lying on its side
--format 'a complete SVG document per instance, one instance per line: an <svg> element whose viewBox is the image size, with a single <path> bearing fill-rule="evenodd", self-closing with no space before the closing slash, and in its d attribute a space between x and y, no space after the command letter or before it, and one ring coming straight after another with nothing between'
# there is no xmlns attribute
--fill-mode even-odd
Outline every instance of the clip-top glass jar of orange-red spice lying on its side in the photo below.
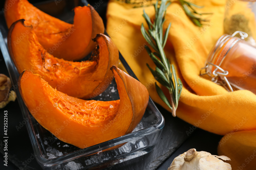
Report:
<svg viewBox="0 0 256 170"><path fill-rule="evenodd" d="M256 48L244 40L247 37L248 34L241 31L222 35L210 51L200 75L209 75L213 82L229 91L245 89L256 94Z"/></svg>

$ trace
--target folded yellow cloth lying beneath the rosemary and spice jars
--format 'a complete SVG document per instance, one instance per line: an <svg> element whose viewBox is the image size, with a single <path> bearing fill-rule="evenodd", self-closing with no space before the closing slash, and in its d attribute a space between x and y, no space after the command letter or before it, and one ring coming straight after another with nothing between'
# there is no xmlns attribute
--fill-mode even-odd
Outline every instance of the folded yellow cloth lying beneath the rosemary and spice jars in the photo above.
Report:
<svg viewBox="0 0 256 170"><path fill-rule="evenodd" d="M226 135L231 131L256 130L255 94L247 90L228 93L225 88L199 76L209 50L223 34L226 2L223 0L194 0L191 2L204 6L204 8L198 9L199 12L213 12L214 14L210 15L210 21L200 28L190 21L178 1L173 1L167 8L164 28L166 29L170 22L172 26L165 46L165 53L174 64L177 75L184 85L176 115L196 127L220 135ZM107 32L138 79L148 88L152 99L170 111L158 97L154 85L156 81L146 67L146 63L152 68L155 65L144 49L144 45L147 43L140 31L142 22L147 25L142 16L143 9L149 17L154 17L153 6L133 8L130 4L110 1L107 10ZM161 86L159 83L158 85ZM167 92L165 88L162 89ZM239 126L241 122L244 123ZM251 134L246 135L250 136ZM232 138L230 138L231 141ZM241 142L234 140L233 145L247 147L246 140ZM220 147L220 152L222 148L224 145ZM236 150L231 150L225 155L230 156L230 154L239 153L236 153ZM236 159L235 161L239 164L238 161L244 160Z"/></svg>

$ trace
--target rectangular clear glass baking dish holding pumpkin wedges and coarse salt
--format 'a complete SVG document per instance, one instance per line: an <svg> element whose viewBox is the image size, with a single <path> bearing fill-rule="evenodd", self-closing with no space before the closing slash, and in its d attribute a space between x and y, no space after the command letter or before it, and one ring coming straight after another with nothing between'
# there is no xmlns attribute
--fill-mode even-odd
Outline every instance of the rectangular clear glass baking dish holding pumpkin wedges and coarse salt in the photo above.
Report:
<svg viewBox="0 0 256 170"><path fill-rule="evenodd" d="M53 5L62 8L61 10L58 10L59 13L55 14L55 16L66 22L72 23L74 14L71 10L73 7L70 4L72 4L73 1L58 1L64 3L64 5L57 6L54 2L55 1L47 1L46 3L41 3L36 6L40 9L52 9ZM79 2L79 5L87 5L87 2L82 0ZM13 84L12 90L15 90L17 94L20 110L24 120L26 120L26 127L36 160L43 169L76 170L111 168L115 164L144 155L152 150L164 127L164 117L156 108L151 98L149 99L147 109L141 122L132 133L84 149L60 141L48 130L43 128L29 113L19 94L17 84L19 74L8 52L8 29L3 11L0 13L0 24L0 48ZM126 71L137 79L120 53L119 59ZM119 99L115 81L113 80L109 88L93 99L102 101ZM119 145L121 147L117 149L102 152L105 149Z"/></svg>

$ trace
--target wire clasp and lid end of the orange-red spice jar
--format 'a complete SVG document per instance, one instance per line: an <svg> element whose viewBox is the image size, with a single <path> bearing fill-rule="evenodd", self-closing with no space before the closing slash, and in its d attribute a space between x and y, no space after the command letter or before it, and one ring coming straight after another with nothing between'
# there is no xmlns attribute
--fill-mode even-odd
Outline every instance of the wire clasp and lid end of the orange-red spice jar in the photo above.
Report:
<svg viewBox="0 0 256 170"><path fill-rule="evenodd" d="M238 37L236 40L234 40L231 45L229 46L228 49L226 49L226 54L224 51L223 45L226 44L231 38L233 38L235 35L239 34L240 37ZM230 49L240 40L244 40L244 38L247 38L248 34L242 31L236 31L234 32L232 35L222 35L219 40L217 41L215 47L213 48L212 52L208 55L208 61L206 61L205 63L205 67L201 68L200 70L200 76L203 75L208 75L210 76L212 79L211 81L222 85L223 87L225 87L228 91L233 91L233 88L231 87L230 83L227 80L227 75L228 75L228 71L227 70L223 70L220 65L222 63L222 61L225 59L225 57L227 56L228 52L230 51ZM217 50L218 49L218 50ZM219 55L218 55L219 54ZM222 55L225 54L223 57ZM222 57L222 58L221 58ZM219 60L219 63L216 63L216 60ZM209 71L209 67L212 67L212 71Z"/></svg>

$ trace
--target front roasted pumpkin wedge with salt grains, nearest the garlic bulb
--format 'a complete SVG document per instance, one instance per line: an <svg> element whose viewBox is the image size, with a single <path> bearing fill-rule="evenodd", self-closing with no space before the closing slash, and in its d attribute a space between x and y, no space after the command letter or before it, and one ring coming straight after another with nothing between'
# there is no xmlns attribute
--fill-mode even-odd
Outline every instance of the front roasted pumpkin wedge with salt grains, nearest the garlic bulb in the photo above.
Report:
<svg viewBox="0 0 256 170"><path fill-rule="evenodd" d="M38 123L60 140L86 148L132 132L147 107L146 87L115 66L112 71L120 100L70 97L26 70L20 75L19 91Z"/></svg>

